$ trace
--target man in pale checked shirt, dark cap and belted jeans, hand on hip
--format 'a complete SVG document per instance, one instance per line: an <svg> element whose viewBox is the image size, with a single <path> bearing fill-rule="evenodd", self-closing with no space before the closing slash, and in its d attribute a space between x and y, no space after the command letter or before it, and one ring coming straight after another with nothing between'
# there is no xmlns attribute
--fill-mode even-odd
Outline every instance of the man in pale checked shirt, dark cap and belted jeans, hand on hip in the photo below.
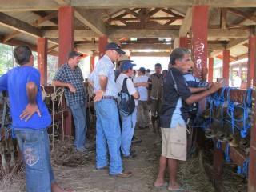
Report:
<svg viewBox="0 0 256 192"><path fill-rule="evenodd" d="M89 75L90 85L94 86L94 109L96 110L96 169L109 167L109 174L127 178L132 175L122 167L120 153L121 130L118 118L116 98L118 89L114 82L114 64L121 54L120 47L110 42L105 55L98 61L94 71ZM108 158L108 151L110 159Z"/></svg>

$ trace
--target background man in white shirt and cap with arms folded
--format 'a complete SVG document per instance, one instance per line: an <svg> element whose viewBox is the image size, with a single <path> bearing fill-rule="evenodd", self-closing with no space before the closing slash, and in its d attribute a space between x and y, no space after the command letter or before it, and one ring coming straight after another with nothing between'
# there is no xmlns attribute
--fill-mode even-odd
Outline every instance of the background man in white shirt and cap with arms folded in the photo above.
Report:
<svg viewBox="0 0 256 192"><path fill-rule="evenodd" d="M137 126L140 129L149 127L150 114L149 106L147 105L148 93L146 86L148 86L148 77L145 75L146 69L144 67L139 68L138 77L134 79L134 86L137 87L140 95L137 106Z"/></svg>

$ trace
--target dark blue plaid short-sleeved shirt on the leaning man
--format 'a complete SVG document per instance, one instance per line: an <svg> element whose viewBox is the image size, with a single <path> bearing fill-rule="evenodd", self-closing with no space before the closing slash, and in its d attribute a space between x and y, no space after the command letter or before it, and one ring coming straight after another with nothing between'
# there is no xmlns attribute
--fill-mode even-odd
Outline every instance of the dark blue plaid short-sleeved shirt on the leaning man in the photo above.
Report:
<svg viewBox="0 0 256 192"><path fill-rule="evenodd" d="M58 72L55 74L53 81L68 82L72 84L76 90L75 94L73 94L68 87L65 87L64 95L66 98L67 106L85 103L86 97L83 80L82 71L79 66L72 70L66 63L58 69Z"/></svg>

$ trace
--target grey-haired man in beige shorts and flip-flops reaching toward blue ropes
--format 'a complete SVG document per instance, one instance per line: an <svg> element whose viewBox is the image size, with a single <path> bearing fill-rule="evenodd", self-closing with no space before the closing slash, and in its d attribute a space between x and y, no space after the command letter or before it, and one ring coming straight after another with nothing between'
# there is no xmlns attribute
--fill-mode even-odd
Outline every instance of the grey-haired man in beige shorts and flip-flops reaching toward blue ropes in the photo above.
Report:
<svg viewBox="0 0 256 192"><path fill-rule="evenodd" d="M186 48L174 49L170 54L172 67L163 82L162 154L159 160L158 177L154 186L168 186L168 190L171 191L183 191L190 188L189 185L179 183L176 180L178 160L186 161L188 106L206 98L209 94L213 94L222 86L219 82L216 82L209 90L200 94L191 94L183 77L183 74L187 71L187 62L189 61L189 50ZM167 166L170 174L169 182L164 179Z"/></svg>

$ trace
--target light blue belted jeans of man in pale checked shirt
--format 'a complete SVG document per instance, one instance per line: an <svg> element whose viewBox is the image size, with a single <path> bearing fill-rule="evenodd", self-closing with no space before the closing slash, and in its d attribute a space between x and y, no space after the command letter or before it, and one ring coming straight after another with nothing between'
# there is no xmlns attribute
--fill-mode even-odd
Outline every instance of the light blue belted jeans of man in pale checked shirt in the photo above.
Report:
<svg viewBox="0 0 256 192"><path fill-rule="evenodd" d="M110 153L110 174L122 172L120 154L121 130L118 118L118 106L112 99L94 102L96 110L96 167L109 164L107 150ZM108 147L108 149L107 149Z"/></svg>

